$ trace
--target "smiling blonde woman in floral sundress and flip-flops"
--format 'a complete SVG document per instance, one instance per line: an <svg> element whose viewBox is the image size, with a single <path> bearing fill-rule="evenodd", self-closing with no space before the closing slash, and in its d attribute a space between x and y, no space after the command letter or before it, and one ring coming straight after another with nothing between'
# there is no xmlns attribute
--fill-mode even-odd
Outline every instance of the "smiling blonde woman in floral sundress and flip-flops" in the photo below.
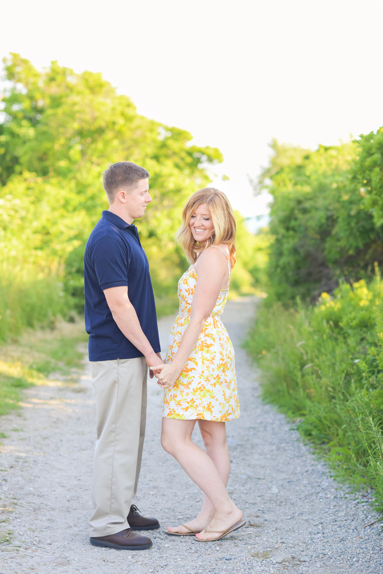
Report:
<svg viewBox="0 0 383 574"><path fill-rule="evenodd" d="M230 457L225 421L240 416L234 351L221 323L235 258L236 222L224 193L200 189L182 212L177 241L189 269L178 283L179 313L170 332L166 363L151 367L165 389L162 447L205 493L200 514L174 536L212 541L244 526L226 485ZM198 421L206 452L192 441Z"/></svg>

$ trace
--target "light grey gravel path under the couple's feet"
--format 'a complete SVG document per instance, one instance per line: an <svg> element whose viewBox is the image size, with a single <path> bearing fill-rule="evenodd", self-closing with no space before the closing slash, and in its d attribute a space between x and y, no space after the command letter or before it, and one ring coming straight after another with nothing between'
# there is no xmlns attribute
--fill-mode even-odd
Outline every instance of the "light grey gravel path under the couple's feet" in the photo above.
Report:
<svg viewBox="0 0 383 574"><path fill-rule="evenodd" d="M155 516L150 550L120 552L89 545L95 412L89 365L79 385L26 391L19 414L2 417L0 574L54 570L114 572L383 572L381 526L366 498L347 494L298 432L259 398L257 373L240 348L252 300L230 301L224 323L236 350L241 418L227 424L229 492L248 520L219 542L169 537L168 525L194 517L201 492L159 443L162 391L149 385L144 459L135 503ZM159 321L165 347L172 320ZM200 444L198 432L195 440ZM11 535L10 535L11 536Z"/></svg>

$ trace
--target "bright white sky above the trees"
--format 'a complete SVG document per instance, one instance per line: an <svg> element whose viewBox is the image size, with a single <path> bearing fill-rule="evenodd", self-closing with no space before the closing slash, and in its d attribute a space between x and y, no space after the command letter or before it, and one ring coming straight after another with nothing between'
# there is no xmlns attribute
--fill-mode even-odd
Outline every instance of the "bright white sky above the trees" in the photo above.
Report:
<svg viewBox="0 0 383 574"><path fill-rule="evenodd" d="M220 148L214 181L267 213L247 174L276 137L315 148L383 125L383 0L18 0L0 55L103 72L140 114Z"/></svg>

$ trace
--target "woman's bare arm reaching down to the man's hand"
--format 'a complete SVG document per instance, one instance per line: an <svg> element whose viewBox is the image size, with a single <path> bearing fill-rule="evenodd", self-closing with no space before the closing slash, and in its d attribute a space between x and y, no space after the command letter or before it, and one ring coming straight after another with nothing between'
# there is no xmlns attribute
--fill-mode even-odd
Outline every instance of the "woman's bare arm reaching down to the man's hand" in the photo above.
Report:
<svg viewBox="0 0 383 574"><path fill-rule="evenodd" d="M222 281L228 271L227 259L220 249L203 251L197 266L197 284L193 296L192 311L181 344L171 363L158 365L153 369L157 377L161 379L163 388L173 385L194 347L196 347L202 327L204 327L206 319L216 305Z"/></svg>

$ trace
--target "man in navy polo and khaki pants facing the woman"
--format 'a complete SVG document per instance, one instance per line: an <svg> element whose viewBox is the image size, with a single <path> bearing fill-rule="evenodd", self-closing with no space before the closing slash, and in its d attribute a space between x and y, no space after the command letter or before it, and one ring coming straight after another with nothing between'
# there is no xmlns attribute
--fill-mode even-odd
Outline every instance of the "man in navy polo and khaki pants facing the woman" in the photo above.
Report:
<svg viewBox="0 0 383 574"><path fill-rule="evenodd" d="M159 528L157 519L144 518L131 505L144 441L147 365L161 359L148 261L132 224L151 201L148 177L129 161L105 170L110 207L89 236L84 258L97 416L90 542L125 550L152 545L133 530Z"/></svg>

